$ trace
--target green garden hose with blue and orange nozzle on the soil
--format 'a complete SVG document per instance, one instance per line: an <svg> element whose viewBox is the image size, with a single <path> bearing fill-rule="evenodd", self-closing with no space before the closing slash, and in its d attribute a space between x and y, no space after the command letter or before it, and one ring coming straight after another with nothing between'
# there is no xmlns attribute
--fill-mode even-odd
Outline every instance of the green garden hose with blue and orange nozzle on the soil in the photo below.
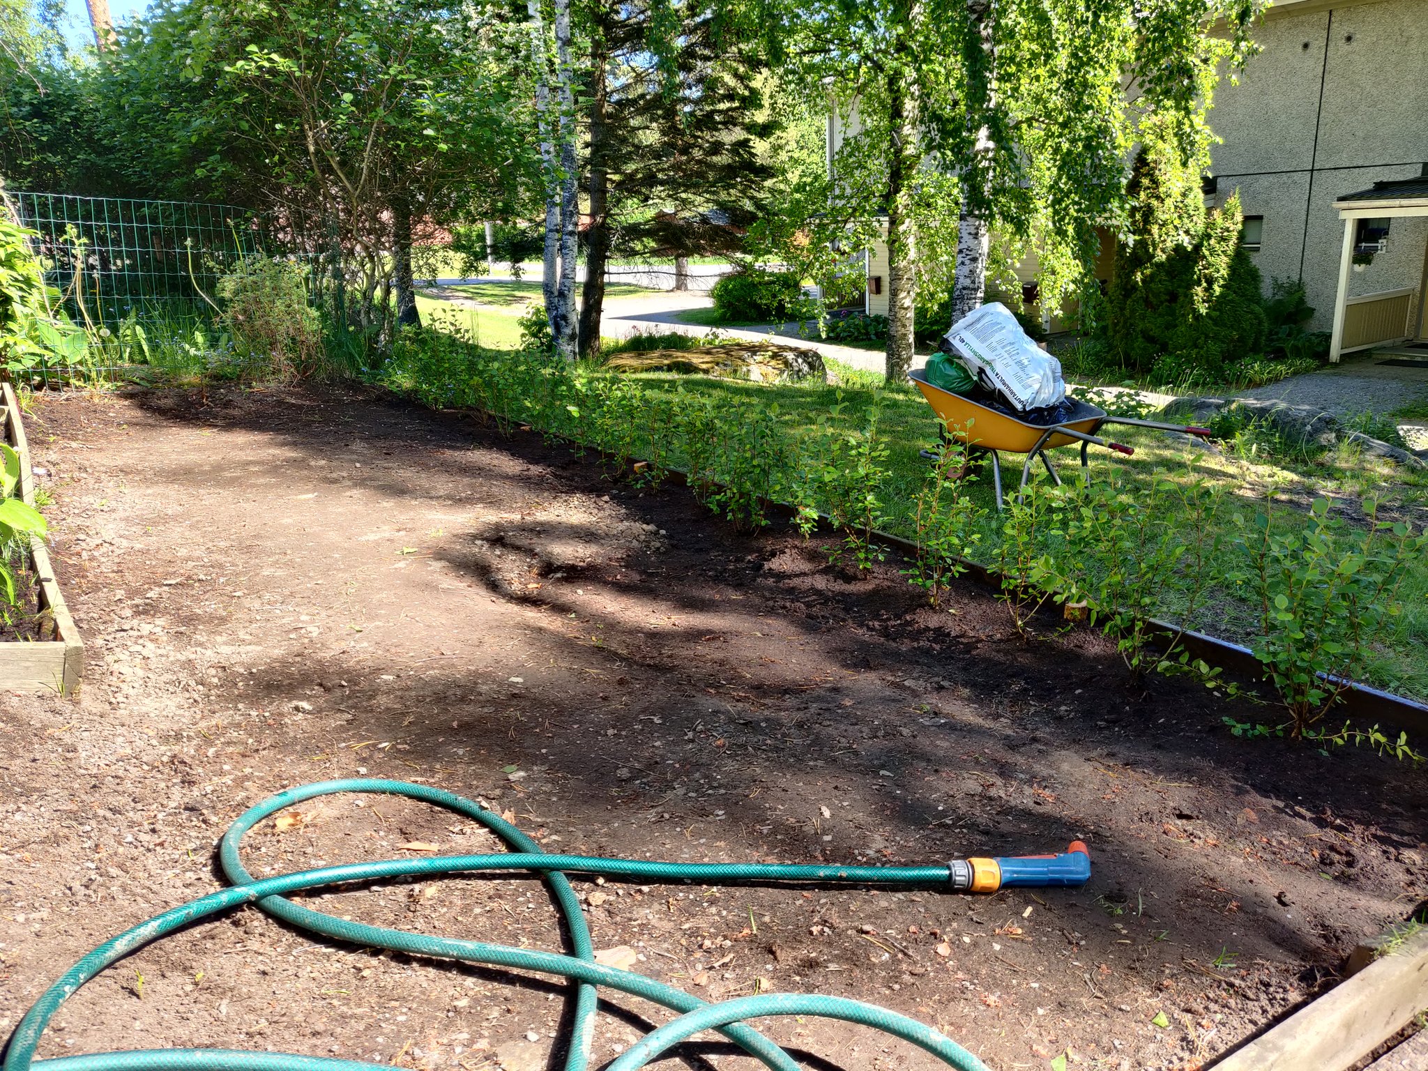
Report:
<svg viewBox="0 0 1428 1071"><path fill-rule="evenodd" d="M466 815L493 834L511 851L498 855L434 855L378 863L348 863L321 867L274 878L257 880L238 860L243 835L284 807L334 793L381 793L444 807ZM741 881L813 881L854 883L865 885L921 885L951 891L995 891L1002 885L1081 885L1091 877L1091 863L1080 841L1060 855L998 860L954 860L928 867L813 867L750 863L654 863L645 860L607 860L587 855L555 855L496 813L453 793L407 781L350 778L320 781L271 795L241 814L218 845L218 860L231 888L170 908L147 922L113 937L74 964L34 1002L6 1050L3 1071L371 1071L376 1064L330 1057L303 1057L281 1052L250 1052L217 1048L174 1048L149 1051L93 1052L89 1055L34 1060L40 1037L59 1007L84 982L110 964L143 948L150 941L171 934L201 918L244 904L257 904L274 918L323 937L353 945L384 948L410 955L428 955L463 962L554 974L575 984L575 1007L565 1071L584 1071L590 1061L595 1027L597 987L608 985L681 1012L680 1018L660 1027L627 1050L610 1071L635 1071L671 1045L701 1030L718 1030L724 1037L774 1071L795 1071L794 1060L778 1045L758 1034L744 1020L763 1015L810 1015L845 1020L874 1027L910 1041L934 1054L957 1071L987 1071L977 1057L957 1042L915 1020L887 1008L815 994L760 994L705 1004L683 990L595 962L590 930L580 911L580 901L567 873L603 877L628 877L644 881L680 881L727 884ZM437 877L491 870L520 870L540 875L550 888L555 907L570 934L571 954L543 952L531 948L463 941L451 937L408 934L400 930L367 925L298 907L284 900L288 892L333 888L351 883L401 877Z"/></svg>

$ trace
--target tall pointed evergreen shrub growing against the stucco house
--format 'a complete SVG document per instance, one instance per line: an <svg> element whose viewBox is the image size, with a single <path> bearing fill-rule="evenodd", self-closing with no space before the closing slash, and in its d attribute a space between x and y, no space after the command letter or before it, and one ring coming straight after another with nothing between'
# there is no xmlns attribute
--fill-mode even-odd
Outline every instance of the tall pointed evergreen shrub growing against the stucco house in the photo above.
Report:
<svg viewBox="0 0 1428 1071"><path fill-rule="evenodd" d="M1130 233L1115 247L1107 340L1132 371L1215 378L1259 353L1259 268L1240 244L1240 196L1205 211L1200 174L1150 124L1131 169Z"/></svg>

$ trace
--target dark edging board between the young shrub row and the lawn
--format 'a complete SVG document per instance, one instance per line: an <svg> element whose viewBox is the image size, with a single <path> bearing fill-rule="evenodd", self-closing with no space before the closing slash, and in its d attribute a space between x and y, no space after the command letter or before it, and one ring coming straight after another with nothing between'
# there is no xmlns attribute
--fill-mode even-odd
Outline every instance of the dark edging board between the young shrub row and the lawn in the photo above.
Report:
<svg viewBox="0 0 1428 1071"><path fill-rule="evenodd" d="M484 410L447 410L448 413L481 413L483 416L490 416ZM598 448L585 446L583 443L574 443L574 440L565 440L564 436L545 436L545 433L536 431L536 428L528 426L517 424L523 431L530 431L531 434L538 434L541 437L558 438L561 441L570 441L573 446L580 446L583 450L594 450L595 453L604 453ZM645 464L645 463L638 463ZM678 470L668 470L668 477L671 483L678 486L688 486L688 476ZM765 501L764 507L785 520L793 520L795 510L791 506L775 501ZM831 521L818 514L820 527L833 530ZM904 558L912 561L918 555L918 547L912 540L907 540L901 536L894 536L887 531L874 530L870 534L874 543L883 544L895 550ZM972 580L982 587L990 587L995 591L1002 590L1002 575L994 568L988 568L980 563L971 561L968 558L960 558L958 564L962 567L967 578ZM1178 643L1184 650L1195 658L1204 658L1210 665L1220 667L1230 673L1238 674L1248 680L1259 680L1264 675L1264 667L1259 660L1255 658L1254 651L1242 644L1232 643L1230 640L1221 640L1214 635L1205 635L1204 633L1194 633L1190 630L1181 630L1174 624L1167 621L1151 620L1151 627L1154 630L1155 638L1160 644L1170 645L1171 643ZM1329 677L1331 681L1339 683L1338 678ZM1358 684L1357 681L1349 681L1348 687L1339 697L1344 704L1342 710L1348 717L1361 718L1365 721L1381 723L1385 727L1391 725L1394 728L1402 730L1412 735L1428 737L1428 705L1411 700L1405 695L1395 695L1389 691L1382 691L1379 688L1369 687L1368 684Z"/></svg>

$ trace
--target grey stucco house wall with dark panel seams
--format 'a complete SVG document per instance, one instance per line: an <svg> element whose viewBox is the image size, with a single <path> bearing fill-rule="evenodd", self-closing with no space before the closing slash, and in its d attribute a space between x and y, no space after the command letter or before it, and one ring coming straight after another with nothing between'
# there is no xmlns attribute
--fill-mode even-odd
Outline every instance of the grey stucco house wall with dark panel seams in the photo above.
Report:
<svg viewBox="0 0 1428 1071"><path fill-rule="evenodd" d="M1252 256L1265 286L1302 276L1312 326L1328 330L1344 236L1334 201L1428 164L1428 0L1289 0L1254 37L1259 54L1210 113L1214 197L1240 190L1245 216L1264 217ZM1394 220L1348 296L1419 290L1425 243L1428 220Z"/></svg>

